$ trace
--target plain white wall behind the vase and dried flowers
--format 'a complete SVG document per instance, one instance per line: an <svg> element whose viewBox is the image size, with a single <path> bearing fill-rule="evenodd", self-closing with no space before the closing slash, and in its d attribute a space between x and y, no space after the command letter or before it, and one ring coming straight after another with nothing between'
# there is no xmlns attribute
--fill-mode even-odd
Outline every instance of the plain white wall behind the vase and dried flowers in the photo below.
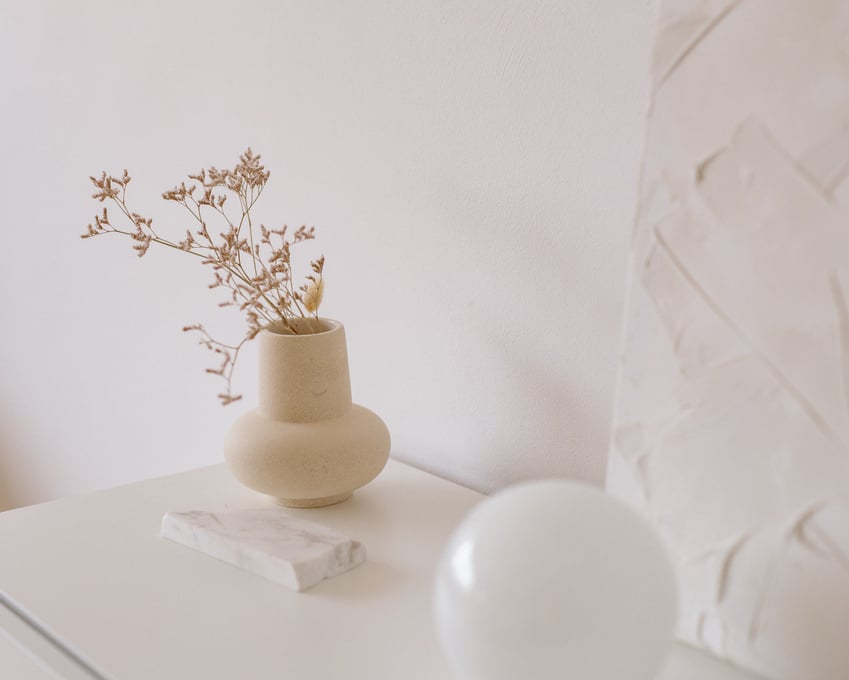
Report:
<svg viewBox="0 0 849 680"><path fill-rule="evenodd" d="M221 460L255 355L222 409L180 328L239 319L181 254L78 234L88 175L129 168L181 229L159 192L247 145L263 220L317 228L393 455L482 490L600 482L652 5L4 3L0 504Z"/></svg>

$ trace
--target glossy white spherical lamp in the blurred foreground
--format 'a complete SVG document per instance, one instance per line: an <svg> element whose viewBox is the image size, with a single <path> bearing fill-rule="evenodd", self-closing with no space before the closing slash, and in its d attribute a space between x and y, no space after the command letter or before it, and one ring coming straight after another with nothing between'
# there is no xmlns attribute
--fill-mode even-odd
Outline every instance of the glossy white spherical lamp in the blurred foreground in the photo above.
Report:
<svg viewBox="0 0 849 680"><path fill-rule="evenodd" d="M462 522L437 568L437 635L464 680L652 680L676 586L651 526L594 487L511 487Z"/></svg>

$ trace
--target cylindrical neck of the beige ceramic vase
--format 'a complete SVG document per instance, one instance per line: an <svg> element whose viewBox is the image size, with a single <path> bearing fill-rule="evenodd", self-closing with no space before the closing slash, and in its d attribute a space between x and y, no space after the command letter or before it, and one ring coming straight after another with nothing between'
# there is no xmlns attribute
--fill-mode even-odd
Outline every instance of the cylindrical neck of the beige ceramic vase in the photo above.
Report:
<svg viewBox="0 0 849 680"><path fill-rule="evenodd" d="M331 319L292 319L259 335L259 413L311 423L351 408L345 328ZM316 332L317 331L317 332Z"/></svg>

